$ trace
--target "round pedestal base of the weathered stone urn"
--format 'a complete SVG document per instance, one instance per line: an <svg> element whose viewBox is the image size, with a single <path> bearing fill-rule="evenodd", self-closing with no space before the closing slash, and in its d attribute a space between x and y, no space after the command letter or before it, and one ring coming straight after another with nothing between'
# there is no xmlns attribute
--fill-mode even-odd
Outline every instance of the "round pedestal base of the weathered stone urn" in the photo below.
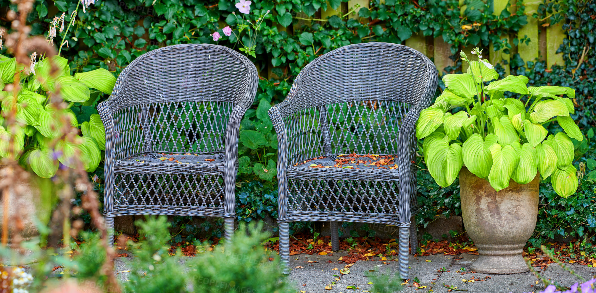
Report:
<svg viewBox="0 0 596 293"><path fill-rule="evenodd" d="M477 273L523 273L530 269L522 257L524 245L476 244L478 259L470 265Z"/></svg>

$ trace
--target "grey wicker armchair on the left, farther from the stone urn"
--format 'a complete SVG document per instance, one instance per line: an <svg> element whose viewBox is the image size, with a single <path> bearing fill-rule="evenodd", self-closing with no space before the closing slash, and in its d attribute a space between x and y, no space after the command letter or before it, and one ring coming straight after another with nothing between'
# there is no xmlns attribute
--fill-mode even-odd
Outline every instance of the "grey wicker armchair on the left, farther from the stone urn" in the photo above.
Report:
<svg viewBox="0 0 596 293"><path fill-rule="evenodd" d="M98 105L110 244L114 216L145 214L221 217L231 240L238 131L257 84L249 59L210 44L159 48L122 71Z"/></svg>

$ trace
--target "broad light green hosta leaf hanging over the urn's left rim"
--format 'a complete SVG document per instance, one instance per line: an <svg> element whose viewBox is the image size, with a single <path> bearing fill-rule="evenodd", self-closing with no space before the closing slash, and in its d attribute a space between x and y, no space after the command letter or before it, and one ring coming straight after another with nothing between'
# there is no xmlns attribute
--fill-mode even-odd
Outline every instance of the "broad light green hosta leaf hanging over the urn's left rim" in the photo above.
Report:
<svg viewBox="0 0 596 293"><path fill-rule="evenodd" d="M492 166L492 154L489 147L495 143L496 136L492 133L486 136L486 141L477 133L472 134L464 141L462 159L472 174L480 178L488 177Z"/></svg>

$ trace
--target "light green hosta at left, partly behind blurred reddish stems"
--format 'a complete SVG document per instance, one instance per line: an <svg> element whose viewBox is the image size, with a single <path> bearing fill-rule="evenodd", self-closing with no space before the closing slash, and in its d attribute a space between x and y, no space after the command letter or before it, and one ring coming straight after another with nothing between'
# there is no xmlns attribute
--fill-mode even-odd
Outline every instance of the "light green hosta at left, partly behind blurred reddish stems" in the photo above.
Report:
<svg viewBox="0 0 596 293"><path fill-rule="evenodd" d="M70 75L61 56L35 62L35 55L30 67L0 55L0 156L19 160L43 178L53 177L60 164L92 172L105 150L104 125L97 114L77 121L70 108L91 105L101 93L110 94L116 78L101 68ZM7 86L15 78L18 87ZM5 119L9 116L16 121Z"/></svg>

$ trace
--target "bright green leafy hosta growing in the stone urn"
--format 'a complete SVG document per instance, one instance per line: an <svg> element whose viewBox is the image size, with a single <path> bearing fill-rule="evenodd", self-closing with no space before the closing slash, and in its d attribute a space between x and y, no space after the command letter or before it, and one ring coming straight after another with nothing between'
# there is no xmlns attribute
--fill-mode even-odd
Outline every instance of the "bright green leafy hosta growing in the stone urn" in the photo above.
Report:
<svg viewBox="0 0 596 293"><path fill-rule="evenodd" d="M510 179L527 184L539 172L543 179L551 176L557 194L569 197L578 188L572 138L583 139L569 116L575 113L575 90L528 87L523 75L496 80L498 73L481 53L474 49L472 61L461 52L467 73L446 74L446 89L420 113L416 135L424 138L430 174L446 187L465 165L499 191ZM555 121L564 132L544 127Z"/></svg>

